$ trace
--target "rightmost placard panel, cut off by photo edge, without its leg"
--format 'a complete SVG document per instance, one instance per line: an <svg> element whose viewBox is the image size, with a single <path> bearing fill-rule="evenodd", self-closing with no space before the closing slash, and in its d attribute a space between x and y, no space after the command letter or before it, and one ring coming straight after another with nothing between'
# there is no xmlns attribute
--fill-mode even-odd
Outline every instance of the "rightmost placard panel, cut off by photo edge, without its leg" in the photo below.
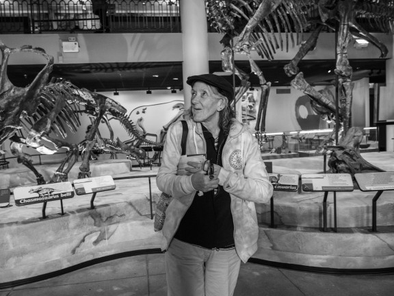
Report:
<svg viewBox="0 0 394 296"><path fill-rule="evenodd" d="M394 190L394 172L354 174L361 191Z"/></svg>

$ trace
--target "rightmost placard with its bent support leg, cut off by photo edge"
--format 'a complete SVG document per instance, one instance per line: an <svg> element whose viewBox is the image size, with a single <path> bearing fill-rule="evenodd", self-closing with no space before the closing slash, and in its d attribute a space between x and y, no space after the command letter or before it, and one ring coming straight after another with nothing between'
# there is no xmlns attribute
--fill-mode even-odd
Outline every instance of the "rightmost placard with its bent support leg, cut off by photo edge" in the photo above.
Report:
<svg viewBox="0 0 394 296"><path fill-rule="evenodd" d="M386 190L394 190L394 172L357 173L354 175L361 191L378 191L372 199L372 230L378 232L376 226L376 202Z"/></svg>

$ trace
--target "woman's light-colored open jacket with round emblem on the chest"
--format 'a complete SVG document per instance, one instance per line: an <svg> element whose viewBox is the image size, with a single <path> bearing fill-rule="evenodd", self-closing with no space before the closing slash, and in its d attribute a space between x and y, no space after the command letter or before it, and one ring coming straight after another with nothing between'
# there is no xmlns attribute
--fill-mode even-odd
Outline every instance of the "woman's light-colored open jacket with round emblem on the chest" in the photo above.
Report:
<svg viewBox="0 0 394 296"><path fill-rule="evenodd" d="M187 154L207 153L200 123L187 120ZM172 124L167 133L157 173L157 187L174 197L166 210L163 225L162 250L168 249L183 215L196 194L190 175L176 175L181 158L182 124ZM254 203L265 203L272 197L272 184L261 160L256 138L248 127L234 121L222 153L222 169L219 184L231 196L231 214L234 221L235 249L239 258L246 262L257 251L259 226ZM198 196L196 197L198 198Z"/></svg>

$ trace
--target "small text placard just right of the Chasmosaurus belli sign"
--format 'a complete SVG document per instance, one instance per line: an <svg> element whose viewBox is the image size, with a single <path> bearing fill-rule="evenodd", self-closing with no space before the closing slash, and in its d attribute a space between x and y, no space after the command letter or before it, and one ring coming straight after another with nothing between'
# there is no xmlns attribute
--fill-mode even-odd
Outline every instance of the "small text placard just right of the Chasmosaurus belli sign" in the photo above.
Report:
<svg viewBox="0 0 394 296"><path fill-rule="evenodd" d="M77 179L73 181L73 184L77 195L114 190L116 188L114 179L110 175Z"/></svg>

